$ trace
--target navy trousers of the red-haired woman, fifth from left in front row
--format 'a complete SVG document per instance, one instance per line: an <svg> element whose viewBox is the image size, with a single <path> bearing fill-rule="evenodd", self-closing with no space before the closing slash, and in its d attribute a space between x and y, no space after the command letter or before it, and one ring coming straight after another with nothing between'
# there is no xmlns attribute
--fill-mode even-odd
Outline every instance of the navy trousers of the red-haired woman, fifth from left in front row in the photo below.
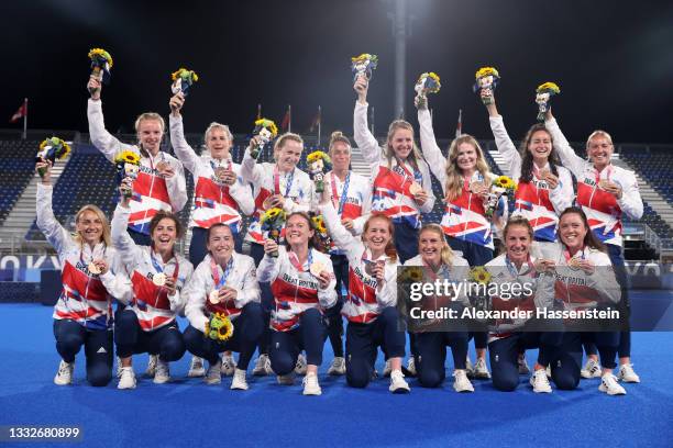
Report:
<svg viewBox="0 0 673 448"><path fill-rule="evenodd" d="M346 327L346 382L352 388L366 388L374 374L378 347L388 358L405 356L405 332L397 329L396 307L383 310L371 324L349 322Z"/></svg>

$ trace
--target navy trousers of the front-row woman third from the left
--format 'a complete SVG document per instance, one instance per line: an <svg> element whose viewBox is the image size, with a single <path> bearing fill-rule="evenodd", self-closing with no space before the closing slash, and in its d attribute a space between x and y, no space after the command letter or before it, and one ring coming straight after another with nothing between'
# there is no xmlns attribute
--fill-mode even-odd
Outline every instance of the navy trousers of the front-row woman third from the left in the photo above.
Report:
<svg viewBox="0 0 673 448"><path fill-rule="evenodd" d="M247 370L247 365L255 352L255 348L257 348L257 340L262 336L264 326L262 305L256 302L247 303L241 310L241 314L232 322L234 333L225 341L205 337L203 332L189 325L184 334L187 350L199 358L207 359L211 365L218 362L219 354L222 351L238 351L240 356L236 367L241 370Z"/></svg>

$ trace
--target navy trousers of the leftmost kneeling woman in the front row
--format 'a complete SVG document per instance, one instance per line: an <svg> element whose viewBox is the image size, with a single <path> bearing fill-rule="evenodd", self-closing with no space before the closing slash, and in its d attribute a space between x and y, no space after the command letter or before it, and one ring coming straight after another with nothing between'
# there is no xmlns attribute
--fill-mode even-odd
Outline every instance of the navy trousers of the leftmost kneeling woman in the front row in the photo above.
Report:
<svg viewBox="0 0 673 448"><path fill-rule="evenodd" d="M87 381L107 385L112 379L112 328L88 329L70 320L54 320L56 350L66 362L73 362L81 346L87 360Z"/></svg>

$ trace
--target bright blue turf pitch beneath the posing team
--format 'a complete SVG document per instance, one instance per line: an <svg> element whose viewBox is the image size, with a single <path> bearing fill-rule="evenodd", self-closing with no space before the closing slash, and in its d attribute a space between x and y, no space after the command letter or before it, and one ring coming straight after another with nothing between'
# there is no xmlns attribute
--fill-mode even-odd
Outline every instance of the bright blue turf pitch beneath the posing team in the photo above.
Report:
<svg viewBox="0 0 673 448"><path fill-rule="evenodd" d="M633 334L642 383L626 384L626 396L599 393L598 380L539 395L525 377L514 393L474 381L475 393L457 394L450 379L439 390L411 380L409 395L391 395L383 379L353 390L324 374L328 343L323 394L305 397L299 381L287 388L272 378L251 378L246 392L230 391L230 378L207 387L185 378L189 356L172 363L174 382L164 385L140 378L147 357L136 356L137 389L118 391L115 380L102 389L87 385L80 354L75 385L56 387L51 314L42 305L0 305L0 425L78 425L84 443L77 446L673 446L671 333ZM528 352L530 365L534 356ZM16 446L44 445L63 446Z"/></svg>

